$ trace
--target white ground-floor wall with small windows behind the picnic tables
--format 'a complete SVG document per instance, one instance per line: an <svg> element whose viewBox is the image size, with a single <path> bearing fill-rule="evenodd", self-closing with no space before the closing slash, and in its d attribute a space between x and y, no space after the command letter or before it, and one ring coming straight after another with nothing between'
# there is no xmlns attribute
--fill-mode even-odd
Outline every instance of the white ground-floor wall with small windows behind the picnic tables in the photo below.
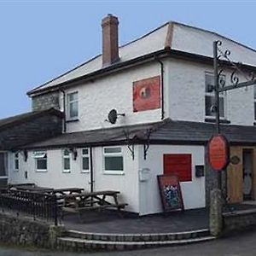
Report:
<svg viewBox="0 0 256 256"><path fill-rule="evenodd" d="M78 148L79 150L79 148ZM138 212L138 178L137 178L137 147L135 160L127 146L122 146L124 156L123 174L106 174L103 171L102 147L93 148L94 189L118 190L119 201L128 203L127 211ZM28 152L25 162L20 156L20 170L14 171L13 155L9 154L9 183L36 183L38 186L49 188L83 188L90 191L90 172L83 173L80 151L77 160L71 160L71 172L64 173L61 149L47 150L48 171L37 172L32 151ZM27 179L25 172L27 171Z"/></svg>

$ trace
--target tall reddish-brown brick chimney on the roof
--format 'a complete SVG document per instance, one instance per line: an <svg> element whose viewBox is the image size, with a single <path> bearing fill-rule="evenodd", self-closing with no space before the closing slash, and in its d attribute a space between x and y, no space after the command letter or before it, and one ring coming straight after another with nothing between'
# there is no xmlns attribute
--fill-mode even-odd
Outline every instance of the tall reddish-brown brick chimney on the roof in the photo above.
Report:
<svg viewBox="0 0 256 256"><path fill-rule="evenodd" d="M102 19L102 67L119 61L119 20L113 15Z"/></svg>

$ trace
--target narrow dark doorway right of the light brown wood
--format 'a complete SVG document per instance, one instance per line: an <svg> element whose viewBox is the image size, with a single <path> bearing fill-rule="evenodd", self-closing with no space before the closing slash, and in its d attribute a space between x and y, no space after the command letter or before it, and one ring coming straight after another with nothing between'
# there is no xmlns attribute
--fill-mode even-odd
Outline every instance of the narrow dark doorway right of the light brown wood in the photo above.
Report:
<svg viewBox="0 0 256 256"><path fill-rule="evenodd" d="M242 193L243 200L253 200L253 149L242 150Z"/></svg>

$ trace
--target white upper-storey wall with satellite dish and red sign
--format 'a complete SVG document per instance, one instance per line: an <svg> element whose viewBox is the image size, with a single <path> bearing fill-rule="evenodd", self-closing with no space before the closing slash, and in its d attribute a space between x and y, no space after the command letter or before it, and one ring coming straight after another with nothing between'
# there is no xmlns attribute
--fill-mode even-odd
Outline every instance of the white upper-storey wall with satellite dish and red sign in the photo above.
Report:
<svg viewBox="0 0 256 256"><path fill-rule="evenodd" d="M133 82L158 75L160 75L160 63L154 61L66 90L67 93L79 91L79 121L67 123L67 132L159 121L160 108L133 113L132 94ZM62 104L62 94L60 96ZM119 117L115 125L105 121L113 108L119 113L125 113L125 117Z"/></svg>

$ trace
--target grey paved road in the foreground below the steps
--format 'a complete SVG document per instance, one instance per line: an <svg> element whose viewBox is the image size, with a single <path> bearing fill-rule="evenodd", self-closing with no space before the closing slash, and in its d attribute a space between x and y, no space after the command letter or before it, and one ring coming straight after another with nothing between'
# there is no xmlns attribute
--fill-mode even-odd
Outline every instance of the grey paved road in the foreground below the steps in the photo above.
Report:
<svg viewBox="0 0 256 256"><path fill-rule="evenodd" d="M11 249L0 247L1 256L79 256L78 253L51 253ZM255 256L256 255L256 230L236 236L197 243L181 247L162 247L140 251L116 253L86 253L91 256Z"/></svg>

